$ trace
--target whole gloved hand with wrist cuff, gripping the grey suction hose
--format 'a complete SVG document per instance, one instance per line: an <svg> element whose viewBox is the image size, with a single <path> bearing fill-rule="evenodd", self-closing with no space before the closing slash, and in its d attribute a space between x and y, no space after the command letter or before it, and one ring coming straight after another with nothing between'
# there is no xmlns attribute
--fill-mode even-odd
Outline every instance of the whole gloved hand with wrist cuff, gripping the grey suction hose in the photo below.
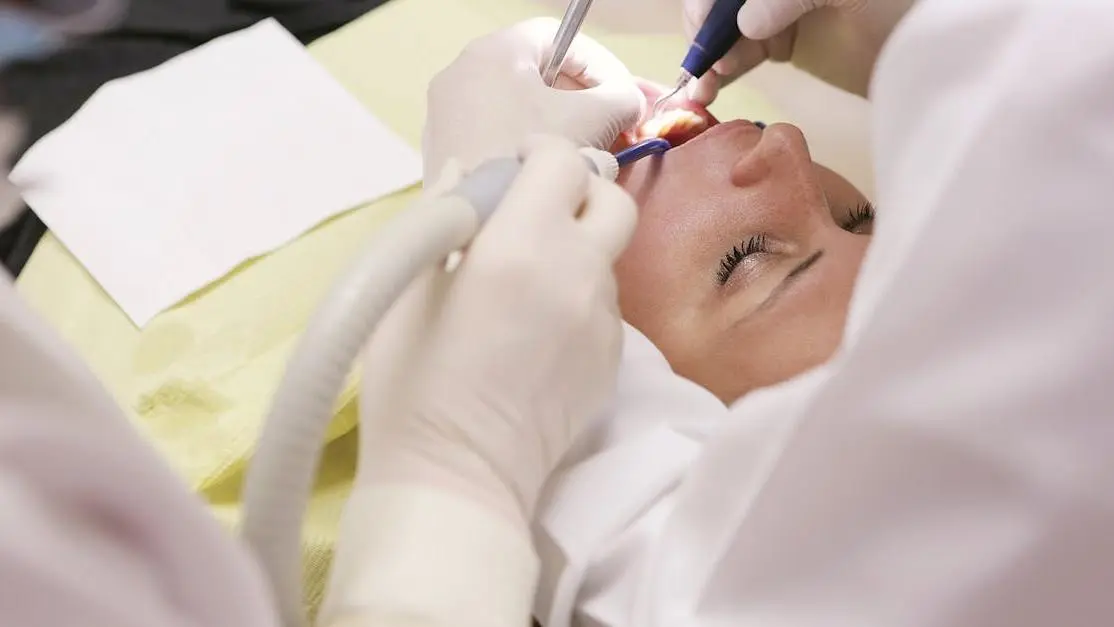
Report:
<svg viewBox="0 0 1114 627"><path fill-rule="evenodd" d="M363 356L359 469L325 625L527 625L541 484L614 392L612 264L634 202L535 138L452 272L411 285ZM451 189L455 160L427 188Z"/></svg>

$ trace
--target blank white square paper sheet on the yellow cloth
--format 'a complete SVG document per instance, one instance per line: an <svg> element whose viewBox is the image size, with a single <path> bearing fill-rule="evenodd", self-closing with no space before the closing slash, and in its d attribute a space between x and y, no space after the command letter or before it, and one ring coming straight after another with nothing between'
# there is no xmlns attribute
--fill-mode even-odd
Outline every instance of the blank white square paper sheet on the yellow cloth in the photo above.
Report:
<svg viewBox="0 0 1114 627"><path fill-rule="evenodd" d="M11 174L140 327L420 178L418 151L273 20L106 85Z"/></svg>

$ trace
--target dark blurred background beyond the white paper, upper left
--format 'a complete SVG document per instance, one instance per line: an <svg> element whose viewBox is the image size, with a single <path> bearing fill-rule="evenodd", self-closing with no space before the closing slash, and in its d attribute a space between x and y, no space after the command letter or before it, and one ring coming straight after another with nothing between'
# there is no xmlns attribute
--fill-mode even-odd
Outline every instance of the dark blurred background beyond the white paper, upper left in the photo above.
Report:
<svg viewBox="0 0 1114 627"><path fill-rule="evenodd" d="M49 59L17 63L0 72L4 108L18 111L28 125L27 137L11 163L69 119L109 80L150 69L266 18L277 19L309 43L387 1L130 0L127 17L115 30L77 42ZM46 231L25 206L0 232L0 263L18 275Z"/></svg>

